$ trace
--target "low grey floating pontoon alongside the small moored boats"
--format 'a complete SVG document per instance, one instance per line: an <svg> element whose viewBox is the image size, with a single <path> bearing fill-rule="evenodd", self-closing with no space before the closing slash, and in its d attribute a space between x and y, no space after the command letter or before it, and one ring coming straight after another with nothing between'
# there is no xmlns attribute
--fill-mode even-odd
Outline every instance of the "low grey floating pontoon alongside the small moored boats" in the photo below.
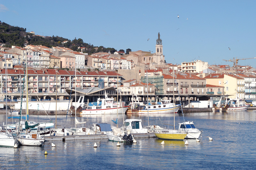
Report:
<svg viewBox="0 0 256 170"><path fill-rule="evenodd" d="M134 138L149 138L156 137L154 133L140 133L132 134ZM67 136L45 136L45 142L47 141L74 141L74 140L101 140L108 139L106 134L97 135L67 135Z"/></svg>

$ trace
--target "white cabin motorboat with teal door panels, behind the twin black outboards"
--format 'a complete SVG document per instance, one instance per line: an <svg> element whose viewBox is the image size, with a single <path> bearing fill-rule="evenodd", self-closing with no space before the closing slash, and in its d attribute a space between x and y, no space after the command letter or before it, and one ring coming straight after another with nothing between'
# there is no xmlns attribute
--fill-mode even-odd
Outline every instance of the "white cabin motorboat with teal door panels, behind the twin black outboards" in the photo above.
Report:
<svg viewBox="0 0 256 170"><path fill-rule="evenodd" d="M147 128L142 128L140 119L126 119L124 120L124 126L121 127L121 131L127 131L130 133L148 133Z"/></svg>

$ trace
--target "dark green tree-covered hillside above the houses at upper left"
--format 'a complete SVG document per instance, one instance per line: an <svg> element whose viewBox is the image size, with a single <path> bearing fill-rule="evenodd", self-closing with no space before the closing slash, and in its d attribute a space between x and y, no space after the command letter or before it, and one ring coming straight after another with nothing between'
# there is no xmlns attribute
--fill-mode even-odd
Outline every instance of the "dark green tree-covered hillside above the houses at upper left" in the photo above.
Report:
<svg viewBox="0 0 256 170"><path fill-rule="evenodd" d="M93 46L90 43L84 43L81 38L74 40L68 40L67 38L59 37L59 36L40 36L34 35L32 33L26 32L26 28L22 27L14 27L7 23L2 23L0 25L0 40L3 40L6 47L12 47L12 45L17 45L20 47L24 47L25 45L44 45L46 47L59 46L59 47L67 47L74 51L81 51L78 47L85 47L84 53L88 53L89 55L95 52L108 52L110 51L112 54L117 51L114 48L105 48L103 46ZM68 41L63 43L63 41ZM2 42L0 42L2 43ZM96 50L97 49L97 50ZM128 50L128 49L127 49ZM130 50L130 49L129 49Z"/></svg>

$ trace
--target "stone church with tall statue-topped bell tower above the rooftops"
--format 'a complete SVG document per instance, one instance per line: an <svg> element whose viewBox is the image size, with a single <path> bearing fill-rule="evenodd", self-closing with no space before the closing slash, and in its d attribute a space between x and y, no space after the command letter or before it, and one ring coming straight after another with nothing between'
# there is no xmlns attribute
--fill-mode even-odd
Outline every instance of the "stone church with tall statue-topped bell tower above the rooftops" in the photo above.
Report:
<svg viewBox="0 0 256 170"><path fill-rule="evenodd" d="M129 55L124 56L127 60L133 61L134 65L145 66L149 65L151 68L165 65L163 55L163 44L160 39L160 33L158 33L158 39L156 39L156 52L151 53L150 51L131 51Z"/></svg>

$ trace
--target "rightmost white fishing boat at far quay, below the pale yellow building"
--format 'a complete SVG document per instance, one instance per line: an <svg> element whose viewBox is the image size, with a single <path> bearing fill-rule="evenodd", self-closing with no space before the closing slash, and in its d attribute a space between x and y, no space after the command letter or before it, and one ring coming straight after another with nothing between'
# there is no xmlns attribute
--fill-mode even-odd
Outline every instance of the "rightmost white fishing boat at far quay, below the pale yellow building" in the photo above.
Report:
<svg viewBox="0 0 256 170"><path fill-rule="evenodd" d="M224 102L222 102L224 101ZM228 97L220 97L220 101L216 102L213 107L213 112L230 112L230 111L246 111L250 104L245 104L241 98L229 99Z"/></svg>

